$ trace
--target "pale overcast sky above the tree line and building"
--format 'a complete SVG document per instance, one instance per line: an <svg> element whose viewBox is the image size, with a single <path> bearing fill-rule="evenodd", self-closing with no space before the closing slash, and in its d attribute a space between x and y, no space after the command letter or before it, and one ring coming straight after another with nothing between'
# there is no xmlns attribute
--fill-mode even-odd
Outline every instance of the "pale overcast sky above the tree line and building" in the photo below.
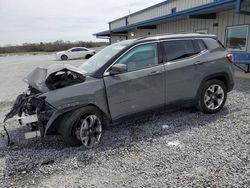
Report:
<svg viewBox="0 0 250 188"><path fill-rule="evenodd" d="M96 41L108 22L163 0L0 0L0 46Z"/></svg>

